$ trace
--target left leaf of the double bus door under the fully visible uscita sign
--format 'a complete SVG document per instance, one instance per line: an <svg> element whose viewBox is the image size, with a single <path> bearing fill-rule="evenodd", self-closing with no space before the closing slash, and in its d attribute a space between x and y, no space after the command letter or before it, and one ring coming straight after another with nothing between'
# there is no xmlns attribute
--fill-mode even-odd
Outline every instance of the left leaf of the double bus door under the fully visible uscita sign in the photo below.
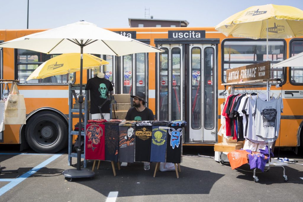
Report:
<svg viewBox="0 0 303 202"><path fill-rule="evenodd" d="M157 118L160 121L185 120L184 118L184 47L163 44L158 58Z"/></svg>

